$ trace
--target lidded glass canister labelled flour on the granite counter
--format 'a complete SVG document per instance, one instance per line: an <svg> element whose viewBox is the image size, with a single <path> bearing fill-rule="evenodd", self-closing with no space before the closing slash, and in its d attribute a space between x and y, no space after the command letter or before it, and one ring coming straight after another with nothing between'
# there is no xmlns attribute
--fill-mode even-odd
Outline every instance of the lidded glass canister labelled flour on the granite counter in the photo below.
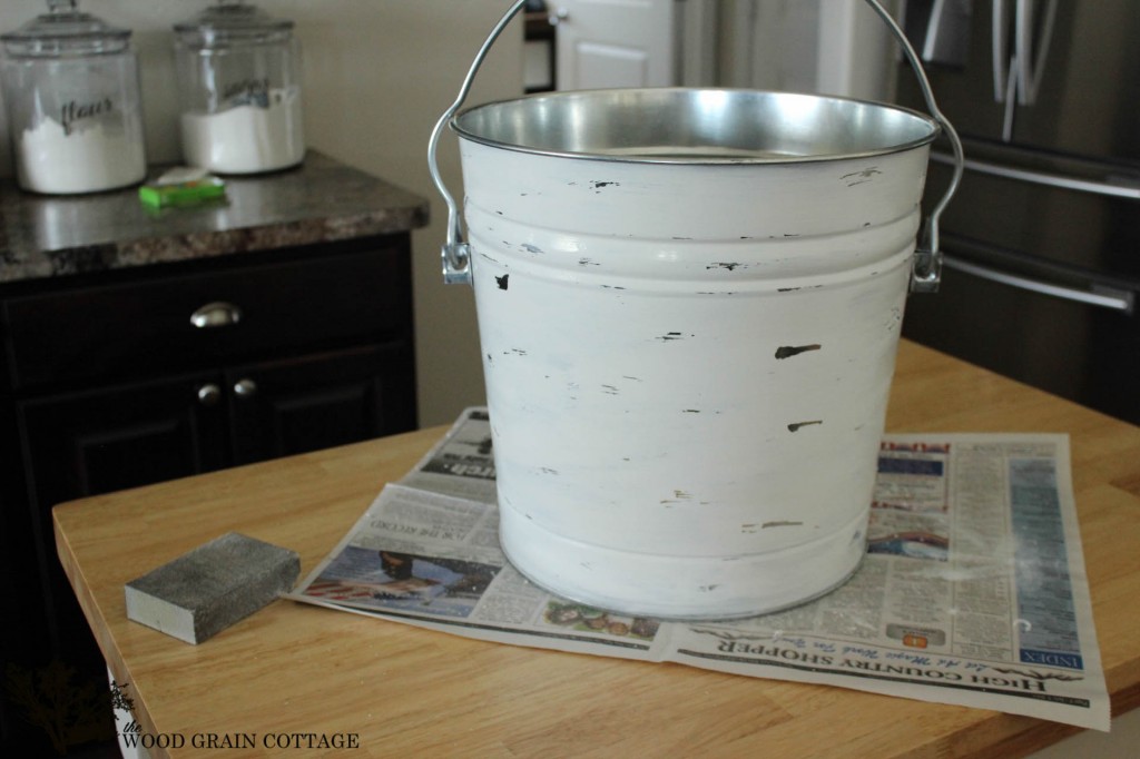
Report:
<svg viewBox="0 0 1140 759"><path fill-rule="evenodd" d="M0 35L16 179L48 194L95 193L146 177L138 63L130 30L48 0Z"/></svg>

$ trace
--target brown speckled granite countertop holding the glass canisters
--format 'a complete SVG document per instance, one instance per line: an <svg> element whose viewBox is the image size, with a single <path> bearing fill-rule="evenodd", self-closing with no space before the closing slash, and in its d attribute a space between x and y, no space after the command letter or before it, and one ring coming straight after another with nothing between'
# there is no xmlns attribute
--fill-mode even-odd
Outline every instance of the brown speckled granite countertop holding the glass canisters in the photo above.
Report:
<svg viewBox="0 0 1140 759"><path fill-rule="evenodd" d="M155 168L152 177L162 172ZM309 150L296 169L227 177L226 201L149 210L131 187L49 196L0 182L0 284L400 232L427 201Z"/></svg>

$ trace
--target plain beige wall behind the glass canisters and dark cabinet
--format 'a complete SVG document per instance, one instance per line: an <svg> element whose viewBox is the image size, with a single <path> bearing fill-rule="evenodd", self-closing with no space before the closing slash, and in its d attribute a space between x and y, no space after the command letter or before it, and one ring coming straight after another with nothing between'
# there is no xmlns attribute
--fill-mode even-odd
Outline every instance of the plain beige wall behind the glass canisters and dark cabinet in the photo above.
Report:
<svg viewBox="0 0 1140 759"><path fill-rule="evenodd" d="M180 160L172 25L206 0L80 0L80 8L135 31L139 55L147 154L152 163ZM303 49L304 126L310 148L382 177L431 202L431 226L413 236L420 421L450 422L483 402L471 289L446 286L439 246L447 210L427 173L426 146L451 104L487 31L506 0L256 0L291 18ZM43 0L3 0L0 31L46 9ZM522 27L513 24L495 46L469 103L522 92ZM0 122L0 173L11 176L7 125ZM440 170L462 198L455 140L441 140Z"/></svg>

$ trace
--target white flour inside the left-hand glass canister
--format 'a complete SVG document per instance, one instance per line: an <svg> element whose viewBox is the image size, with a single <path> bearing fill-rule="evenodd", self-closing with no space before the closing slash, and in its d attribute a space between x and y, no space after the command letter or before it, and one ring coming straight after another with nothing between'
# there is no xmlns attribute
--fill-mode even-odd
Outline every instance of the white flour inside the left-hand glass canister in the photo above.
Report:
<svg viewBox="0 0 1140 759"><path fill-rule="evenodd" d="M16 176L34 193L96 193L141 181L146 152L141 140L101 122L68 134L59 122L43 119L19 137Z"/></svg>

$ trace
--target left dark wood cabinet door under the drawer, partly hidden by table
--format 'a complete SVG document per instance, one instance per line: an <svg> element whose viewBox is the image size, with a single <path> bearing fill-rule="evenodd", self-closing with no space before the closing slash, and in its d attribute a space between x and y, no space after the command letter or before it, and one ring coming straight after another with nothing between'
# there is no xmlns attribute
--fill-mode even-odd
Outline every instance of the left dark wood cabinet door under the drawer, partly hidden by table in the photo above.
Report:
<svg viewBox="0 0 1140 759"><path fill-rule="evenodd" d="M55 555L50 509L83 496L220 468L226 408L219 382L218 374L188 375L17 403L48 623L48 639L28 644L36 648L33 660L55 655L76 668L81 682L106 687L101 658Z"/></svg>

